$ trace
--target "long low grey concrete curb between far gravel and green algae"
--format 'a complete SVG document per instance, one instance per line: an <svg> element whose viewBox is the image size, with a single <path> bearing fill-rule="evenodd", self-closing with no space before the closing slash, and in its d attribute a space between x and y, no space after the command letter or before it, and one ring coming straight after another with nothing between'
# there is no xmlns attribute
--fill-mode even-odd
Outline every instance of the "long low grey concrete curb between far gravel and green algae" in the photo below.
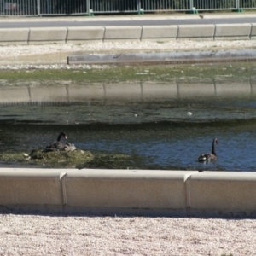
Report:
<svg viewBox="0 0 256 256"><path fill-rule="evenodd" d="M122 64L137 62L194 63L255 60L256 49L227 49L160 53L70 55L67 57L67 64Z"/></svg>

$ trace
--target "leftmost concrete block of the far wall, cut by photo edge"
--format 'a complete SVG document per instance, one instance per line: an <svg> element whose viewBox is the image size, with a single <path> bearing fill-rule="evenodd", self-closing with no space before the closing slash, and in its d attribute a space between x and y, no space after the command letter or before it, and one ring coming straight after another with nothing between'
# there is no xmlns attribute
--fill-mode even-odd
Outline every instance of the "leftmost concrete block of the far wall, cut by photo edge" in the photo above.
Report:
<svg viewBox="0 0 256 256"><path fill-rule="evenodd" d="M1 28L0 45L28 44L28 28Z"/></svg>

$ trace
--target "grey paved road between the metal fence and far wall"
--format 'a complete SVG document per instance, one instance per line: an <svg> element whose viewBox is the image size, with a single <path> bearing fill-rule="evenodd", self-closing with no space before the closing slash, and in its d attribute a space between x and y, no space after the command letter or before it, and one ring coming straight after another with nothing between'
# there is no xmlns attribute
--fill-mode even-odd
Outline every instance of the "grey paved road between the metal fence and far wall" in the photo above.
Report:
<svg viewBox="0 0 256 256"><path fill-rule="evenodd" d="M78 20L0 20L0 28L21 28L21 27L53 27L53 26L163 26L163 25L196 25L196 24L234 24L234 23L256 23L255 17L227 17L227 18L214 18L207 17L201 19L198 15L193 16L192 19L179 17L178 19L168 19L166 17L160 20L143 18L143 19L95 19L95 18L79 18ZM50 21L49 21L50 20Z"/></svg>

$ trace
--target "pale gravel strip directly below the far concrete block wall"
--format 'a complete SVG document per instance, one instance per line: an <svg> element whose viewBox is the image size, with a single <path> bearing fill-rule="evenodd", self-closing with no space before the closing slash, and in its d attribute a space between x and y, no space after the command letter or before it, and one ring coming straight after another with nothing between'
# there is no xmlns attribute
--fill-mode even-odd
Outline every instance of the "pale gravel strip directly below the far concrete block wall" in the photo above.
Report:
<svg viewBox="0 0 256 256"><path fill-rule="evenodd" d="M87 44L42 44L42 45L14 45L0 47L0 56L15 55L38 55L53 52L108 52L112 50L182 50L182 49L208 49L208 48L247 48L256 47L256 40L237 40L237 41L167 41L167 42L105 42L105 43L87 43Z"/></svg>

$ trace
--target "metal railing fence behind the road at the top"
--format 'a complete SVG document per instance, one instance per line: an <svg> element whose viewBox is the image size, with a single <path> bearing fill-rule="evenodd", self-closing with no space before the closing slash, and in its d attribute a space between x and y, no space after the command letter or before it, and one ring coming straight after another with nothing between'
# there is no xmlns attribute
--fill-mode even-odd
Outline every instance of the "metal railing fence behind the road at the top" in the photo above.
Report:
<svg viewBox="0 0 256 256"><path fill-rule="evenodd" d="M0 0L0 15L105 15L256 9L256 0Z"/></svg>

